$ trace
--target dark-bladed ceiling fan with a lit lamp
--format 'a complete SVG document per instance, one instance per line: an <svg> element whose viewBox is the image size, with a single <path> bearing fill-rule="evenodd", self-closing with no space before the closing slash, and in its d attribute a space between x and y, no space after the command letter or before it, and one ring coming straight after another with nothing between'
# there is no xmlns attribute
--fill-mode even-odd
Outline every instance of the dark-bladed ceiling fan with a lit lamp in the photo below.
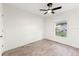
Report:
<svg viewBox="0 0 79 59"><path fill-rule="evenodd" d="M48 9L40 9L40 11L46 11L44 13L44 15L47 14L47 13L49 13L49 12L52 13L52 14L54 14L55 13L54 10L58 10L58 9L62 8L61 6L56 7L56 8L52 8L52 5L53 5L53 3L48 3L47 4Z"/></svg>

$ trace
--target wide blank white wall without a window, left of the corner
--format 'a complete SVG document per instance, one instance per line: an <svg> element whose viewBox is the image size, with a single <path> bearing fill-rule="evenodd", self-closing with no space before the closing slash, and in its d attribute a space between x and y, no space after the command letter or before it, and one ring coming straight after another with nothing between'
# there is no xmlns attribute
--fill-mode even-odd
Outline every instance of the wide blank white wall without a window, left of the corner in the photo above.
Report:
<svg viewBox="0 0 79 59"><path fill-rule="evenodd" d="M3 4L5 49L13 49L43 39L43 19Z"/></svg>

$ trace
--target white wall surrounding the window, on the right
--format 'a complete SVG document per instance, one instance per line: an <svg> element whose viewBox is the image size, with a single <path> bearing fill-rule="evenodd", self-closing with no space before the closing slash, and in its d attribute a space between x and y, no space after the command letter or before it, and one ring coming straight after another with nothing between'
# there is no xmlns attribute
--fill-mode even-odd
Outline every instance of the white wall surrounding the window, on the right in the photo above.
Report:
<svg viewBox="0 0 79 59"><path fill-rule="evenodd" d="M68 32L66 38L57 37L55 35L55 24L60 20L67 20ZM79 8L49 17L46 20L46 25L46 38L79 48Z"/></svg>

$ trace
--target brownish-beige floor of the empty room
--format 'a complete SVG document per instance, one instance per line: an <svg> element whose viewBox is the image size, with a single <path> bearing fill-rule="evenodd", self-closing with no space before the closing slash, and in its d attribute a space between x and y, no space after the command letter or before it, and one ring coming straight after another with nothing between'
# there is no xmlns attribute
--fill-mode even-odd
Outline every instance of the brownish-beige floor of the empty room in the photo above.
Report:
<svg viewBox="0 0 79 59"><path fill-rule="evenodd" d="M12 49L3 56L78 56L79 50L71 46L51 40L40 40L31 44Z"/></svg>

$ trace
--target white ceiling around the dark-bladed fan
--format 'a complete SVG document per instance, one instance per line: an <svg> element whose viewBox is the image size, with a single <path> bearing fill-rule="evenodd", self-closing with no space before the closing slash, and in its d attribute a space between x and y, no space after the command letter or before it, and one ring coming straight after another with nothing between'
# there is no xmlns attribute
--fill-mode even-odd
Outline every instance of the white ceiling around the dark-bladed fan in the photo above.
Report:
<svg viewBox="0 0 79 59"><path fill-rule="evenodd" d="M41 16L41 17L47 17L51 16L53 14L46 14L43 15L44 12L40 11L40 9L47 9L47 3L7 3L8 5L15 6L17 8L21 8L23 10L26 10L27 12L30 12L32 14ZM68 11L73 8L79 7L78 3L53 3L52 8L62 6L62 9L56 10L55 15L59 14L61 12Z"/></svg>

